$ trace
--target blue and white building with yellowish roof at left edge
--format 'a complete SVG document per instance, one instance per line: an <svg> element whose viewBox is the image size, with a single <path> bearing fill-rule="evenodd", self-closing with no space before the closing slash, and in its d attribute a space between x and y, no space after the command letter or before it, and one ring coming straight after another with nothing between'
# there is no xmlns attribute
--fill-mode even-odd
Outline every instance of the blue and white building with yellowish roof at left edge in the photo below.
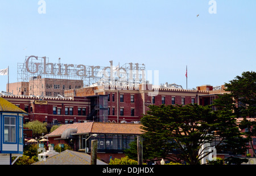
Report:
<svg viewBox="0 0 256 176"><path fill-rule="evenodd" d="M0 97L0 165L23 154L23 117L26 111Z"/></svg>

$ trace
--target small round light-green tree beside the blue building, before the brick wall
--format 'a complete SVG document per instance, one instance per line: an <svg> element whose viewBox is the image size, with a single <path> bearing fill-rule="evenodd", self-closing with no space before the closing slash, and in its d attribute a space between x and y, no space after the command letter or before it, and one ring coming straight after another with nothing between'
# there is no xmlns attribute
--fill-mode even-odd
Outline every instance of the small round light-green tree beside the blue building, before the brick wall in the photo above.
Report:
<svg viewBox="0 0 256 176"><path fill-rule="evenodd" d="M32 121L24 124L24 127L33 131L33 138L42 135L42 133L47 133L47 123L39 122L39 121Z"/></svg>

